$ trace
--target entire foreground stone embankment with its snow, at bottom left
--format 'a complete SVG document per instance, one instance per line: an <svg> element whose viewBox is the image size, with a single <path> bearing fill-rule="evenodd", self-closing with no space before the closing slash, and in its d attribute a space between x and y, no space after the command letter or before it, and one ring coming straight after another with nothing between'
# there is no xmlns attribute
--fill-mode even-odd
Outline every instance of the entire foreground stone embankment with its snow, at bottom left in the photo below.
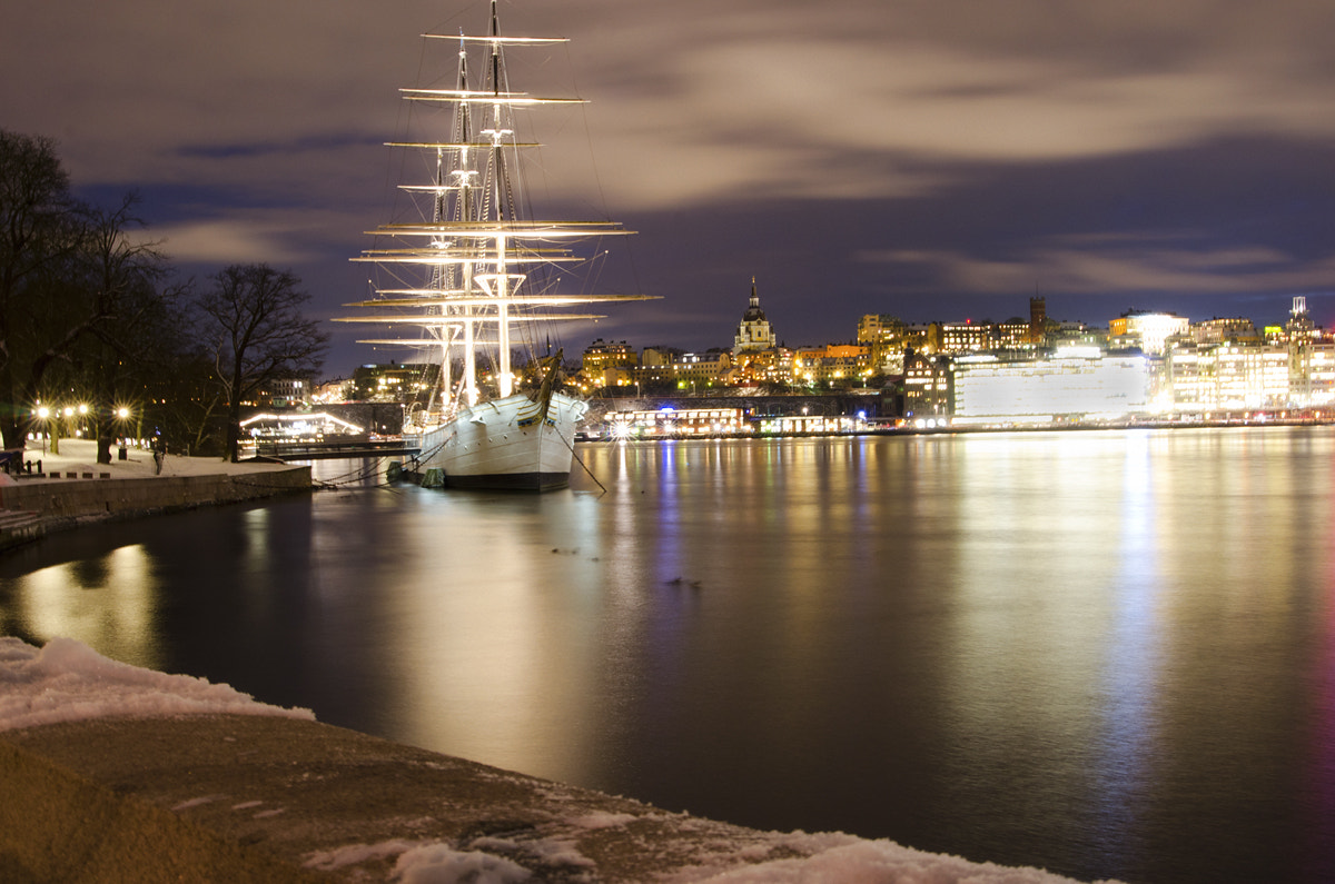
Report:
<svg viewBox="0 0 1335 884"><path fill-rule="evenodd" d="M322 724L68 638L0 638L0 685L5 880L1072 880L665 811Z"/></svg>

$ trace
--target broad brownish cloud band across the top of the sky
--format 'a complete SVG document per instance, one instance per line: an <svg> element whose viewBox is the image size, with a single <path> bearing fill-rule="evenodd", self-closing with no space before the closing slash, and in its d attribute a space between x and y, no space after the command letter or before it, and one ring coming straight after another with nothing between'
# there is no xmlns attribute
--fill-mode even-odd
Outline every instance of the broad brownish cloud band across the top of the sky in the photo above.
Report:
<svg viewBox="0 0 1335 884"><path fill-rule="evenodd" d="M595 99L579 114L602 158L597 183L623 211L948 183L914 158L1041 162L1238 131L1335 134L1326 47L1311 36L1331 24L1322 4L1104 5L685 0L669 15L630 0L615 15L587 3L505 13L575 35L535 73ZM146 0L28 4L0 37L0 88L8 124L60 138L89 183L218 176L216 155L184 148L278 143L286 164L235 162L222 175L316 191L336 168L322 158L354 159L328 139L367 144L396 128L395 89L429 69L415 35L482 21L442 23L426 3L331 0L311 15L239 0L170 16ZM589 192L591 171L551 163L554 194L566 180Z"/></svg>

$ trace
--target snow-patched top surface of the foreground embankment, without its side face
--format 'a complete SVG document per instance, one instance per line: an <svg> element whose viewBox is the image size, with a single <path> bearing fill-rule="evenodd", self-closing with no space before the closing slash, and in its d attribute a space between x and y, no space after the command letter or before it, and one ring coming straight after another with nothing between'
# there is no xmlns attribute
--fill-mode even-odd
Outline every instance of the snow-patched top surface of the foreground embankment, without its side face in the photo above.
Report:
<svg viewBox="0 0 1335 884"><path fill-rule="evenodd" d="M132 733L120 733L125 730ZM271 742L260 745L266 734ZM132 749L99 749L116 738ZM676 884L1071 880L888 840L756 832L670 813L319 725L307 709L282 709L227 685L115 662L69 638L39 649L0 637L5 741L23 752L49 752L63 766L83 764L80 776L101 772L111 780L111 800L156 795L155 813L219 827L222 837L263 841L268 852L283 847L279 855L294 872L331 880L507 884L558 872L571 881ZM146 746L150 741L156 745ZM151 770L140 773L131 756L142 746ZM174 773L178 752L182 769ZM206 776L216 780L206 783ZM280 781L266 781L275 776ZM52 784L52 793L60 792ZM360 823L335 811L360 805L363 792ZM478 833L475 820L489 819L505 819L509 828ZM27 849L4 844L5 837L0 833L0 851ZM17 843L33 833L12 837ZM129 843L138 835L117 837Z"/></svg>

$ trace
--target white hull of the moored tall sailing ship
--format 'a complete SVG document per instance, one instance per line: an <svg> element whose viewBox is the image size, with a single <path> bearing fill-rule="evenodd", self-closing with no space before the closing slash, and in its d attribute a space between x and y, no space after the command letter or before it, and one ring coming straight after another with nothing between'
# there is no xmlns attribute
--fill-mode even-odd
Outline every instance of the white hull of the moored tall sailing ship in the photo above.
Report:
<svg viewBox="0 0 1335 884"><path fill-rule="evenodd" d="M549 491L570 485L575 425L589 406L551 395L546 417L526 395L461 406L453 421L419 437L418 470L439 469L450 487Z"/></svg>

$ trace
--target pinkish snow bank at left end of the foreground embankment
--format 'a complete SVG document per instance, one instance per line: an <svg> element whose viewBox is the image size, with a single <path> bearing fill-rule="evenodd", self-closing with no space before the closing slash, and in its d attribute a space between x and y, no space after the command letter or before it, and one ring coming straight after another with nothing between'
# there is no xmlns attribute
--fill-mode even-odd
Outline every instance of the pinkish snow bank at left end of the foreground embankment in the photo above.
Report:
<svg viewBox="0 0 1335 884"><path fill-rule="evenodd" d="M0 636L0 730L107 716L234 713L315 718L256 702L228 685L108 660L72 638L44 648Z"/></svg>

